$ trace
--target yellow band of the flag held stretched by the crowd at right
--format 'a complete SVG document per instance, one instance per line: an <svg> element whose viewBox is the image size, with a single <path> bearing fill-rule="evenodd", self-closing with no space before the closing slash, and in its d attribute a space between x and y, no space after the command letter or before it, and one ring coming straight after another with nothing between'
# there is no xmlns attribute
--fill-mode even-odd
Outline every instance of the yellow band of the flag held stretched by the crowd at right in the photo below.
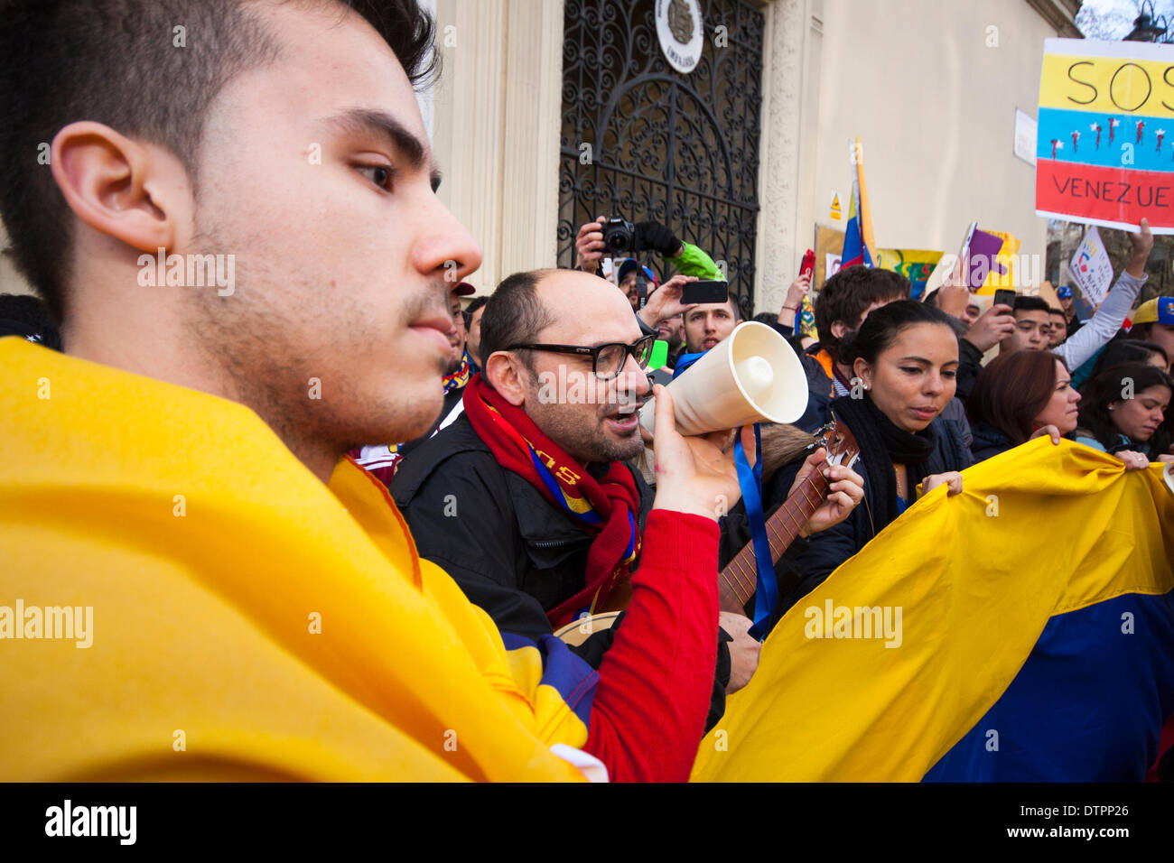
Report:
<svg viewBox="0 0 1174 863"><path fill-rule="evenodd" d="M1041 438L963 477L960 495L933 490L787 613L702 741L694 780L919 781L1053 615L1174 589L1174 494L1159 466L1125 473ZM870 633L843 608L880 615Z"/></svg>

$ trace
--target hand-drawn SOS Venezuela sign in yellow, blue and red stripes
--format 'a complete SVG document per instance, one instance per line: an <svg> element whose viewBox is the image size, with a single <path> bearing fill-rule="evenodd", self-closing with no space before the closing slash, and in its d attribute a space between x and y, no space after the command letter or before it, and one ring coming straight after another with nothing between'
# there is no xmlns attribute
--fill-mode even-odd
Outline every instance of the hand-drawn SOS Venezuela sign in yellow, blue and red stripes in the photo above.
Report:
<svg viewBox="0 0 1174 863"><path fill-rule="evenodd" d="M1035 211L1174 234L1174 47L1048 39Z"/></svg>

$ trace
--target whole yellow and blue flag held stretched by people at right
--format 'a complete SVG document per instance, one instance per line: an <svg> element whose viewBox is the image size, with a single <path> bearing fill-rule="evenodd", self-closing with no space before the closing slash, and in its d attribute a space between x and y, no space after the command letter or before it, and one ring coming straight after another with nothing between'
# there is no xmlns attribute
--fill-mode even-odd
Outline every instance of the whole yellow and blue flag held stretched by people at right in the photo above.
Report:
<svg viewBox="0 0 1174 863"><path fill-rule="evenodd" d="M694 780L1143 777L1174 712L1161 471L1041 438L963 476L787 613Z"/></svg>

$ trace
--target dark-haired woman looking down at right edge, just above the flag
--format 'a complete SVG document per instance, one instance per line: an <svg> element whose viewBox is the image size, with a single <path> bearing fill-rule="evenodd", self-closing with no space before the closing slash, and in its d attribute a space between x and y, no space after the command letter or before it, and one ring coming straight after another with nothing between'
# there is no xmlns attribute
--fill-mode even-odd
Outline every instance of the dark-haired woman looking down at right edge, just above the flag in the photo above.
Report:
<svg viewBox="0 0 1174 863"><path fill-rule="evenodd" d="M1147 363L1122 363L1088 382L1077 441L1115 453L1126 464L1172 461L1166 419L1174 380Z"/></svg>

